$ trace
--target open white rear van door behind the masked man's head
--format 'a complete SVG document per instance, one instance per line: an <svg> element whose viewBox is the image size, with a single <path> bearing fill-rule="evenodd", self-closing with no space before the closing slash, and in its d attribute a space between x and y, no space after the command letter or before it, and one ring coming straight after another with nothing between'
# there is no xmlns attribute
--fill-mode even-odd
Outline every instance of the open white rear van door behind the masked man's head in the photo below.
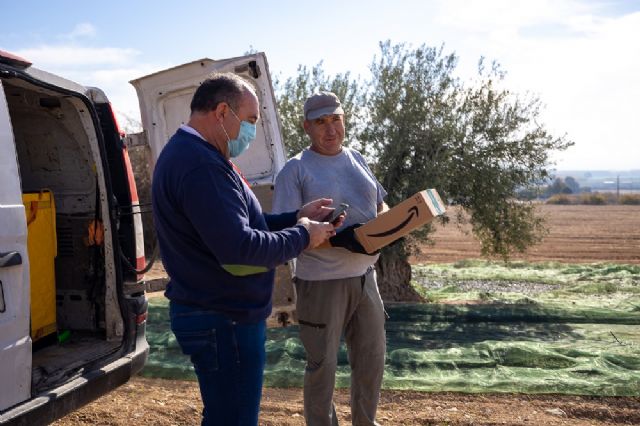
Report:
<svg viewBox="0 0 640 426"><path fill-rule="evenodd" d="M233 72L245 78L258 95L261 112L256 139L249 149L233 159L233 163L251 185L263 211L270 212L273 184L284 166L286 155L264 53L224 60L204 58L132 80L140 102L144 131L133 135L129 142L148 144L154 165L169 138L189 120L191 98L200 83L213 72ZM295 290L291 271L285 265L276 269L273 313L268 324L287 325L293 319L294 310Z"/></svg>

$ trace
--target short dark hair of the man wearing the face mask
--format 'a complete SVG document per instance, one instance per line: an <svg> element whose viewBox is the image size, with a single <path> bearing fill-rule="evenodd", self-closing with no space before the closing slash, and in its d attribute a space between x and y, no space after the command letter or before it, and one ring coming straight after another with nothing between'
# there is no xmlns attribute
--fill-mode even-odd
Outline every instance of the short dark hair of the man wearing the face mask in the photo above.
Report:
<svg viewBox="0 0 640 426"><path fill-rule="evenodd" d="M212 111L220 102L226 102L237 110L242 96L247 91L254 93L246 81L233 73L212 74L193 94L191 113Z"/></svg>

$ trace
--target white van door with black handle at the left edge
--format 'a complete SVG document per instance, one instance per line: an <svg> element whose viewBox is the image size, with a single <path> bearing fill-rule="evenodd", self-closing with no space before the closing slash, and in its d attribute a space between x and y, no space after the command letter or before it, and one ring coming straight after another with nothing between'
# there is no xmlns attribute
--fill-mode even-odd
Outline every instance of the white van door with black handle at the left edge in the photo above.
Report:
<svg viewBox="0 0 640 426"><path fill-rule="evenodd" d="M0 412L31 397L27 222L0 82Z"/></svg>

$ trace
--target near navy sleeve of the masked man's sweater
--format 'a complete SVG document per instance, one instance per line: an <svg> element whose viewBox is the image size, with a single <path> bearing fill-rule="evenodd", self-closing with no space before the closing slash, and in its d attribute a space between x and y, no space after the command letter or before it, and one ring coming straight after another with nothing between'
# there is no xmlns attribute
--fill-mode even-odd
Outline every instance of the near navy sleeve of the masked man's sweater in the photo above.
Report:
<svg viewBox="0 0 640 426"><path fill-rule="evenodd" d="M184 178L181 204L204 244L221 265L274 268L309 244L303 226L277 232L250 226L243 189L231 169L198 167Z"/></svg>

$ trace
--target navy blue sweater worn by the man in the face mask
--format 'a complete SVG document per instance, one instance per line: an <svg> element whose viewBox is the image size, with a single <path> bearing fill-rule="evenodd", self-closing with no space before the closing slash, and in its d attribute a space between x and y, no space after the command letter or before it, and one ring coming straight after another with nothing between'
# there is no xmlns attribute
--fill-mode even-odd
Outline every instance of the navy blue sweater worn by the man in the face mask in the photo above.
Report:
<svg viewBox="0 0 640 426"><path fill-rule="evenodd" d="M158 158L152 202L169 299L238 322L269 316L274 268L309 244L295 212L263 214L229 161L184 130Z"/></svg>

